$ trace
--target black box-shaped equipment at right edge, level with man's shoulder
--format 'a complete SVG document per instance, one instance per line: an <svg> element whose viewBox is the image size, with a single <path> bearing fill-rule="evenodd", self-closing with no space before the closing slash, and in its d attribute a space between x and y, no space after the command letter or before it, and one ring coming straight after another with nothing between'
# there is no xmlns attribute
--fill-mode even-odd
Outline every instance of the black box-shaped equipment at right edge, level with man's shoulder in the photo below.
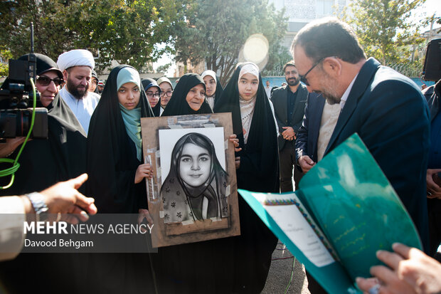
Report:
<svg viewBox="0 0 441 294"><path fill-rule="evenodd" d="M441 80L441 38L433 39L427 44L421 78L434 82Z"/></svg>

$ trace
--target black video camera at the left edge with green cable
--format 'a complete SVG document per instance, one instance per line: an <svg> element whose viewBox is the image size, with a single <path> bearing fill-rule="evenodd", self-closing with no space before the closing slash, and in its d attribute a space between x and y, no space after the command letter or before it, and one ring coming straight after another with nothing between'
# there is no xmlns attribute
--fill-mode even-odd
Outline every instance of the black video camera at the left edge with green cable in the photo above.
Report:
<svg viewBox="0 0 441 294"><path fill-rule="evenodd" d="M9 60L9 77L0 90L0 139L26 137L31 127L33 88L36 80L36 56L33 54L33 25L31 25L31 54L27 61ZM30 97L31 96L31 97ZM36 97L39 102L39 97ZM33 138L48 138L48 110L38 107L31 133Z"/></svg>

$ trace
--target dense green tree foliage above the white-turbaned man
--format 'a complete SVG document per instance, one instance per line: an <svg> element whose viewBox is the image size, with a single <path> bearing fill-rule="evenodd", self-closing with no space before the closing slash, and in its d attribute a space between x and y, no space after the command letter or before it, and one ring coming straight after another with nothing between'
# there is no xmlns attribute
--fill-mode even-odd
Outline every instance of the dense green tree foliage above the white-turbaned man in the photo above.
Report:
<svg viewBox="0 0 441 294"><path fill-rule="evenodd" d="M172 51L185 9L185 1L174 0L1 1L0 43L16 57L28 53L33 21L35 52L55 61L64 51L87 48L101 68L112 60L143 68Z"/></svg>

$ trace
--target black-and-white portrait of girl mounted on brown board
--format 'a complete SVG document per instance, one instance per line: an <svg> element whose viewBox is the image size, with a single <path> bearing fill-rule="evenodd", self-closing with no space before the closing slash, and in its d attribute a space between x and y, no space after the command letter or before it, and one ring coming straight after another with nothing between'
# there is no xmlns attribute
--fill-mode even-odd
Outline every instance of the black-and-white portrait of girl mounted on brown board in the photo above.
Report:
<svg viewBox="0 0 441 294"><path fill-rule="evenodd" d="M154 247L240 235L230 113L141 119Z"/></svg>

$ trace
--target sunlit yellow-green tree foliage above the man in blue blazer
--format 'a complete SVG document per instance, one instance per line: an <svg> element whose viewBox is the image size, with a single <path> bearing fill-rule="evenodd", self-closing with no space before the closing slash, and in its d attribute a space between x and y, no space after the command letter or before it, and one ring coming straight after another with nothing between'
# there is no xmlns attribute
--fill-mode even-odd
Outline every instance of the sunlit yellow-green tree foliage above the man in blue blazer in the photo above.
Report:
<svg viewBox="0 0 441 294"><path fill-rule="evenodd" d="M418 25L409 21L425 0L354 0L344 19L355 29L368 56L383 64L409 60L410 45L423 42Z"/></svg>

